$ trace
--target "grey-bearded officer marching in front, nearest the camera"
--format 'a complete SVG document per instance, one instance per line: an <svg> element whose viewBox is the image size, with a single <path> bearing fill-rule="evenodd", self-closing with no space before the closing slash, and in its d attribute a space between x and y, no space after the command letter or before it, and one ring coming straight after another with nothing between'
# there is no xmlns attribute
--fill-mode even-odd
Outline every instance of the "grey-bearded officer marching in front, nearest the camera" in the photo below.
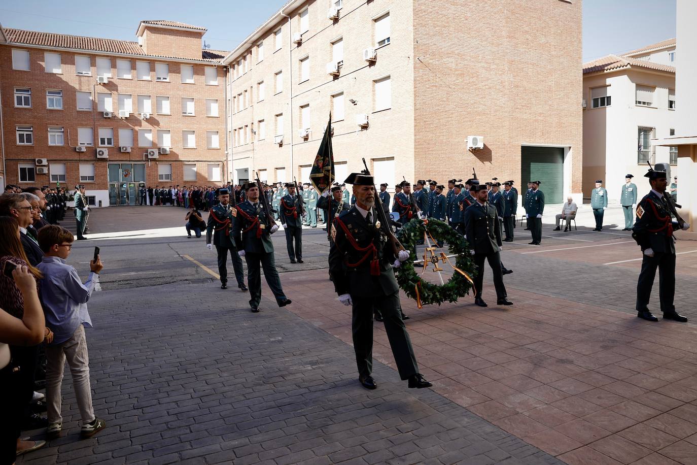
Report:
<svg viewBox="0 0 697 465"><path fill-rule="evenodd" d="M388 237L376 220L373 176L353 173L345 181L353 184L356 204L339 215L329 251L329 270L339 300L353 305L351 328L358 365L358 381L368 389L377 387L373 369L373 310L380 310L388 333L399 377L410 388L431 385L419 373L411 340L401 319L399 287L392 264L409 258L405 251L395 257ZM378 205L378 208L381 206Z"/></svg>

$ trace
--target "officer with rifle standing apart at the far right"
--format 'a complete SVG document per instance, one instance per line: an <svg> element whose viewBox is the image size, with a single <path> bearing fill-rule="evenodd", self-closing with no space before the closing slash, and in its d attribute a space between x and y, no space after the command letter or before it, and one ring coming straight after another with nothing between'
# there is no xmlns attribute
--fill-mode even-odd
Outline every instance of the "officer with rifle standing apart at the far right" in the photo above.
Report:
<svg viewBox="0 0 697 465"><path fill-rule="evenodd" d="M650 169L647 174L651 192L645 195L636 206L634 233L631 235L643 252L641 273L636 284L636 312L639 318L658 321L651 314L648 304L651 297L656 268L660 273L659 294L663 319L687 321L686 317L675 311L675 239L673 230L689 229L688 223L679 224L671 219L671 210L664 198L668 180L666 171Z"/></svg>

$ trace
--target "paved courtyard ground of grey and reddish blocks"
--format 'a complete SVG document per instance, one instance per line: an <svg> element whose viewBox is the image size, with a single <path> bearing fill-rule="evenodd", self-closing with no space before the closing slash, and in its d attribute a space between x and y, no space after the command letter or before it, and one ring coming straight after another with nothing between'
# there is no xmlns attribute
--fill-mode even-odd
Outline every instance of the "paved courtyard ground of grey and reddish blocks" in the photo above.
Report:
<svg viewBox="0 0 697 465"><path fill-rule="evenodd" d="M264 283L251 314L247 294L219 289L215 253L185 238L184 214L93 212L70 261L85 274L99 245L106 264L87 337L109 428L77 439L66 376L68 434L17 463L697 464L694 241L677 243L676 306L691 323L648 323L633 310L641 255L629 234L581 217L572 233L547 224L533 247L518 228L503 252L515 305L491 305L489 270L488 308L466 296L418 310L403 297L434 388L399 381L376 323L379 388L367 391L321 229L304 231L302 265L275 235L293 304L275 307Z"/></svg>

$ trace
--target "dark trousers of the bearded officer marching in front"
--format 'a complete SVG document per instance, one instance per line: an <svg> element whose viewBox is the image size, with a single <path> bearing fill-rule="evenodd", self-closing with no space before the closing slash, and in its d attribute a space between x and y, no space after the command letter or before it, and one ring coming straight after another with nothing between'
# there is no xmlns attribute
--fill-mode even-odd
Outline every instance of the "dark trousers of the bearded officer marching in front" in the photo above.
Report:
<svg viewBox="0 0 697 465"><path fill-rule="evenodd" d="M399 377L408 379L409 376L417 374L419 369L416 365L414 349L404 321L401 319L399 291L389 296L351 296L351 300L353 300L351 330L358 375L370 376L373 371L373 314L375 311L383 315L385 333L388 333Z"/></svg>

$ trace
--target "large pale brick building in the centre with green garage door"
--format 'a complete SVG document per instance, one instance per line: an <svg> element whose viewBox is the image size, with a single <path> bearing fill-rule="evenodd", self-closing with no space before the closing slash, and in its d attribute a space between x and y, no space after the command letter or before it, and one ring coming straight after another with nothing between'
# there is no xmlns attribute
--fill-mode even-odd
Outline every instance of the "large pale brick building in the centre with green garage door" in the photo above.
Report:
<svg viewBox="0 0 697 465"><path fill-rule="evenodd" d="M581 1L291 0L223 63L233 181L307 181L332 112L339 181L365 157L581 201Z"/></svg>

